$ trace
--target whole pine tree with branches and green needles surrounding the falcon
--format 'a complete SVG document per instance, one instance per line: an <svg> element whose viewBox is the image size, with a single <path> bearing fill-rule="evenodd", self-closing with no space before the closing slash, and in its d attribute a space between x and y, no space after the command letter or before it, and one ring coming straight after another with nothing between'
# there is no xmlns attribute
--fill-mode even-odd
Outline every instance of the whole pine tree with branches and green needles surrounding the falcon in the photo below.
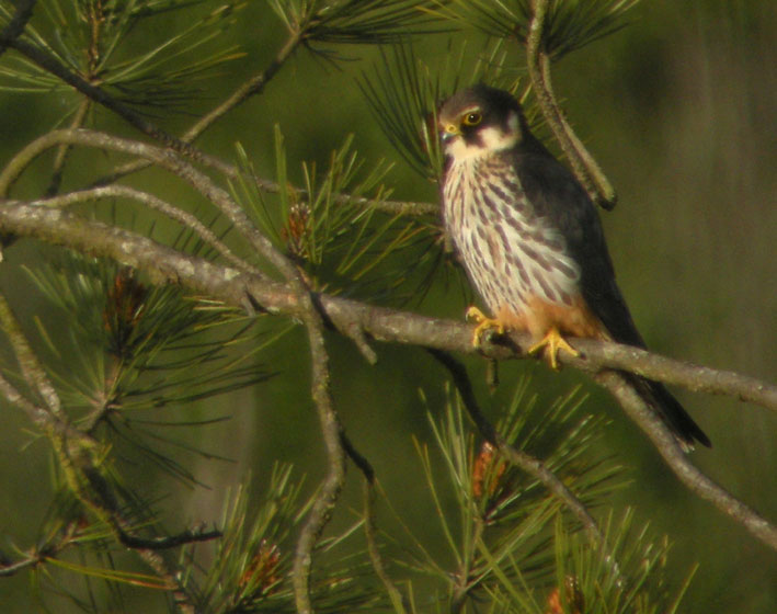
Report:
<svg viewBox="0 0 777 614"><path fill-rule="evenodd" d="M0 120L19 144L0 170L0 393L28 443L14 454L49 468L8 504L45 509L0 552L0 595L33 587L13 611L690 609L695 568L678 579L670 539L616 496L631 476L596 401L511 365L500 383L526 340L460 359L470 327L437 319L469 292L434 197L439 101L480 81L510 90L612 209L551 76L636 4L0 1L2 95L33 106ZM348 95L316 95L325 79ZM332 128L311 121L352 98L366 120L322 146ZM245 113L261 134L241 130ZM356 150L367 123L416 173L418 202L392 197L392 163ZM777 549L777 530L612 369L772 409L774 387L584 349L581 368L688 488ZM391 371L411 388L387 389ZM401 443L362 437L348 412L366 424L376 399L425 416Z"/></svg>

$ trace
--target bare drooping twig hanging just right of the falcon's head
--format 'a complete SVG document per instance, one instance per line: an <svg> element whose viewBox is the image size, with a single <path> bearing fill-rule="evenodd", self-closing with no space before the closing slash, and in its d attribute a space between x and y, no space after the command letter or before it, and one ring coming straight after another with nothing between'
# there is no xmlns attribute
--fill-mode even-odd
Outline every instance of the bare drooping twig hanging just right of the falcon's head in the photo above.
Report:
<svg viewBox="0 0 777 614"><path fill-rule="evenodd" d="M564 114L561 112L553 94L550 79L550 58L542 48L548 0L533 0L533 15L526 36L526 64L532 88L537 96L537 102L542 111L548 125L553 130L574 174L583 184L591 200L603 208L610 211L615 207L617 195L604 172L574 134Z"/></svg>

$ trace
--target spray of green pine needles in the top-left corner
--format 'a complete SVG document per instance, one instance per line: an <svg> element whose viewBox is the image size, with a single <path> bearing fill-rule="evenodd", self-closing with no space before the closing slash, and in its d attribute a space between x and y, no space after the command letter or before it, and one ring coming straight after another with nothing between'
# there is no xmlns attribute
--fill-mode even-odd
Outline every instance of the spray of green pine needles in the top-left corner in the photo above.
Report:
<svg viewBox="0 0 777 614"><path fill-rule="evenodd" d="M85 80L144 106L182 107L204 93L215 69L242 57L225 45L244 0L41 0L25 36ZM198 16L191 19L193 11ZM4 19L13 3L0 3ZM183 15L186 15L184 19ZM149 30L163 26L163 36ZM201 86L198 86L198 83ZM0 91L81 98L27 58L0 66Z"/></svg>

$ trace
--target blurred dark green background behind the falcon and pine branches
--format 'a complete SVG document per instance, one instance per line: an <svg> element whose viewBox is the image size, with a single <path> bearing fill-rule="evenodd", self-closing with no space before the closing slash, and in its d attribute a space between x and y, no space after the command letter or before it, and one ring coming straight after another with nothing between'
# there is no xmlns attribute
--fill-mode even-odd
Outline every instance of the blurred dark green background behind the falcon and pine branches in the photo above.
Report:
<svg viewBox="0 0 777 614"><path fill-rule="evenodd" d="M564 58L555 71L568 115L615 184L620 202L603 213L620 286L649 345L656 352L775 380L777 374L777 3L772 0L643 1L626 30ZM228 73L208 83L206 110L248 75L263 67L283 42L283 30L263 2L250 2L233 32L249 52ZM465 34L454 35L454 47ZM473 36L475 37L475 36ZM448 36L423 43L424 53L444 53ZM475 46L472 48L476 48ZM413 174L376 128L354 77L369 71L374 49L339 48L355 61L333 68L298 53L261 99L250 100L198 144L233 160L240 141L260 173L272 177L272 130L279 123L290 160L325 161L346 133L367 158L398 160L390 175L395 197L434 200L435 187ZM11 54L12 52L9 52ZM518 64L521 56L515 55ZM0 62L3 60L0 59ZM61 113L56 96L0 93L0 161L53 126ZM180 130L190 120L160 121ZM119 126L102 120L103 127ZM133 133L121 128L125 134ZM98 161L98 163L103 163ZM294 166L294 164L290 164ZM26 175L18 194L39 191L41 174ZM66 187L94 171L81 166L66 174ZM176 194L160 173L138 180L161 194ZM37 187L36 187L37 185ZM19 272L37 261L38 247L21 241L5 252L0 283L26 316L43 309ZM435 288L420 309L458 318L465 302L457 291ZM46 311L44 310L44 317ZM31 326L31 320L25 323ZM56 326L56 322L49 326ZM294 331L265 356L282 375L256 390L185 408L186 416L228 410L233 419L187 436L228 454L236 465L185 457L210 490L179 489L135 467L129 475L148 492L174 496L163 505L178 522L219 518L225 491L251 470L262 484L273 459L293 462L312 485L321 476L322 447L308 390L305 338ZM434 409L443 398L442 371L422 351L377 346L368 366L350 342L329 339L334 397L345 427L375 465L382 486L409 523L423 530L431 509L418 476L412 436L430 439L423 389ZM470 364L480 368L477 361ZM571 371L549 375L533 362L503 365L509 398L519 373L534 374L534 388L549 401L583 382L586 410L613 422L605 442L629 467L632 479L614 508L637 507L656 534L675 546L670 576L677 585L700 565L682 612L772 614L777 611L777 555L743 528L689 494L643 435L601 390ZM482 393L483 390L481 390ZM678 391L715 447L694 454L700 468L763 514L777 520L777 419L769 411L730 398ZM47 454L28 441L20 412L0 401L0 548L26 547L49 500ZM357 503L352 473L345 497ZM181 513L181 507L184 512ZM341 509L335 526L352 520ZM34 603L24 575L0 579L3 612ZM161 611L159 601L152 607Z"/></svg>

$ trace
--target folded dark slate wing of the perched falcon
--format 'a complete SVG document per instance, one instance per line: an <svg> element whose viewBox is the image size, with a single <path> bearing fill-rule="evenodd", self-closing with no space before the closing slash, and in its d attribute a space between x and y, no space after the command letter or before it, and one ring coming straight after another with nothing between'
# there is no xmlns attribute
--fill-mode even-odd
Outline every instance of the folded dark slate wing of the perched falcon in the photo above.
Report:
<svg viewBox="0 0 777 614"><path fill-rule="evenodd" d="M521 184L537 215L548 217L567 241L581 268L581 293L614 341L644 348L626 302L615 283L615 270L594 204L574 175L545 148L516 152Z"/></svg>

